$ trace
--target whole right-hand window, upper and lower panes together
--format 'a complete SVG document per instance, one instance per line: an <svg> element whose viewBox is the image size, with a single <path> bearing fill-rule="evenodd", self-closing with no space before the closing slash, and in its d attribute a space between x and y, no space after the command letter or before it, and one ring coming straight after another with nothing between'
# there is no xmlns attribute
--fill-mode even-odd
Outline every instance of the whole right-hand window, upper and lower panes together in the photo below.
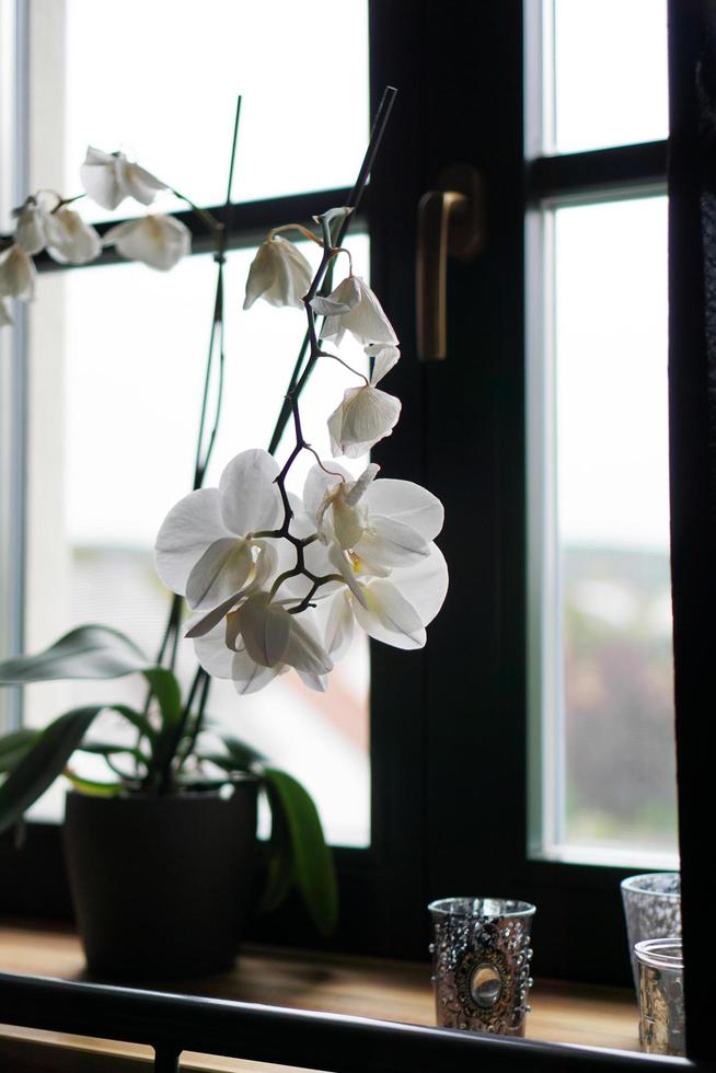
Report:
<svg viewBox="0 0 716 1073"><path fill-rule="evenodd" d="M528 15L532 852L673 868L666 3Z"/></svg>

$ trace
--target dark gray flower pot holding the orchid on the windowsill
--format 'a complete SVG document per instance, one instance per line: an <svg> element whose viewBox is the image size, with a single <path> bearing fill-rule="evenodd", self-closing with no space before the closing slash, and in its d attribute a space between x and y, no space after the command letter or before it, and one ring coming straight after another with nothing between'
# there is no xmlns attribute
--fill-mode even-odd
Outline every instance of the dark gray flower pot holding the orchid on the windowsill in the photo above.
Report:
<svg viewBox="0 0 716 1073"><path fill-rule="evenodd" d="M65 854L90 971L162 978L231 966L249 909L257 783L229 799L69 794Z"/></svg>

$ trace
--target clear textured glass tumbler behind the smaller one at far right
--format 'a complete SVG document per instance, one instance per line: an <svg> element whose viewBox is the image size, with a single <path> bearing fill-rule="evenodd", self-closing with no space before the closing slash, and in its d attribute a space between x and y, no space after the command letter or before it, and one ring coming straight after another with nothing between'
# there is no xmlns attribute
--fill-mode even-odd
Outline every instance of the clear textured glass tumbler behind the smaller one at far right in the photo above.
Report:
<svg viewBox="0 0 716 1073"><path fill-rule="evenodd" d="M681 937L681 876L678 872L630 876L622 882L622 901L638 997L639 970L634 947L644 939Z"/></svg>

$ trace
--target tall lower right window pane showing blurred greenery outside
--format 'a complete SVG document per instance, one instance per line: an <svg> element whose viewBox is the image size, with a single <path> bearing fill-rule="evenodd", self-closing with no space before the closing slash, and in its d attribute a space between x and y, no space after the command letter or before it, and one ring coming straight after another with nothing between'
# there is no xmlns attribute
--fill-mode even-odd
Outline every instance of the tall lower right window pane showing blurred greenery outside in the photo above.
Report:
<svg viewBox="0 0 716 1073"><path fill-rule="evenodd" d="M614 859L675 853L667 200L562 208L554 232L564 740L552 742L552 837Z"/></svg>

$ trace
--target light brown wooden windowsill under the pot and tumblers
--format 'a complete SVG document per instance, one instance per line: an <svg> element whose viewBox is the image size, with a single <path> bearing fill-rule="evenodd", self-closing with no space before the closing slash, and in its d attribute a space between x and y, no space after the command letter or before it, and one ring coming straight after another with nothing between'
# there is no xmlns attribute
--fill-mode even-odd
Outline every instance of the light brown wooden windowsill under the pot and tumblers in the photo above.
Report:
<svg viewBox="0 0 716 1073"><path fill-rule="evenodd" d="M73 932L47 926L0 925L0 971L88 980L79 941ZM113 983L118 981L101 980ZM378 960L356 956L317 955L266 947L246 947L231 972L194 980L142 981L157 991L208 995L288 1006L435 1025L430 971L426 964ZM548 1042L581 1043L638 1050L637 1009L631 991L538 980L530 996L527 1035ZM35 1040L56 1047L134 1058L123 1069L140 1069L149 1048L102 1040L85 1040L53 1032L0 1027L4 1045ZM0 1039L0 1054L2 1053ZM184 1055L183 1068L204 1070L265 1070L264 1065L206 1055ZM0 1063L1 1064L1 1063ZM14 1068L14 1066L13 1066ZM21 1068L20 1065L18 1068ZM47 1065L47 1069L74 1069ZM79 1065L77 1066L80 1068ZM83 1064L82 1069L94 1069ZM119 1068L119 1066L118 1066Z"/></svg>

